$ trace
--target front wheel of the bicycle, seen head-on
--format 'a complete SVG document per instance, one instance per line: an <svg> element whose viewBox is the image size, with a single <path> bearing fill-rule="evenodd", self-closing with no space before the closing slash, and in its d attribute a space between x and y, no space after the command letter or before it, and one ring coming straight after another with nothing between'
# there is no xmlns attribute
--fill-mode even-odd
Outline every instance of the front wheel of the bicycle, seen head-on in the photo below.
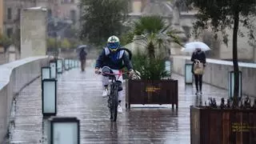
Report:
<svg viewBox="0 0 256 144"><path fill-rule="evenodd" d="M117 121L118 117L118 86L110 86L110 119L112 122Z"/></svg>

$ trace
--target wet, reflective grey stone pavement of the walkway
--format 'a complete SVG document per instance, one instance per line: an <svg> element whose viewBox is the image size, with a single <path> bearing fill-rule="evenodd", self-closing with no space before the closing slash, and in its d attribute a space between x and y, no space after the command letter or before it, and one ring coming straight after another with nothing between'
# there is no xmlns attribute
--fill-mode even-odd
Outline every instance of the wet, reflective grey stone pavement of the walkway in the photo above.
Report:
<svg viewBox="0 0 256 144"><path fill-rule="evenodd" d="M87 64L85 72L79 69L65 71L58 75L58 116L80 119L81 143L171 143L190 144L190 105L198 104L192 86L178 79L179 107L131 105L118 114L116 123L110 122L107 99L102 98L102 83L99 75L94 74L93 62ZM10 143L46 143L45 124L42 119L41 79L22 90L17 100L15 128ZM227 98L227 91L214 86L204 85L202 102L208 97ZM125 98L123 98L125 99ZM45 122L44 122L45 123Z"/></svg>

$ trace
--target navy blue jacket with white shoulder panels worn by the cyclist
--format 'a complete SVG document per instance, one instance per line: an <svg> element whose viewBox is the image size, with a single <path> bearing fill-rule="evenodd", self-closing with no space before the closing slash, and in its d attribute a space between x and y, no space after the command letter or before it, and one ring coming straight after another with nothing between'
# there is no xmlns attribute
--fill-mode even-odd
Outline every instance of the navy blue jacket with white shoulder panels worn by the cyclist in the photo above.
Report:
<svg viewBox="0 0 256 144"><path fill-rule="evenodd" d="M109 66L113 70L121 70L124 66L128 70L133 69L125 50L120 50L116 53L110 52L106 47L102 50L102 54L99 55L95 68L102 68L103 66Z"/></svg>

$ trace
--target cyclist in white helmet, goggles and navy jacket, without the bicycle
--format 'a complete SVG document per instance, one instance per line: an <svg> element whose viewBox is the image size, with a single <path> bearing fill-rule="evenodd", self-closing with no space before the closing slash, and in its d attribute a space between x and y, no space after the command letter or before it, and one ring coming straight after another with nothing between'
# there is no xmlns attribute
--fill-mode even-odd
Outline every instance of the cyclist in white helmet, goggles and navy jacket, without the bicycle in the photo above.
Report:
<svg viewBox="0 0 256 144"><path fill-rule="evenodd" d="M126 66L127 70L130 72L130 76L134 74L133 66L125 53L125 50L118 50L121 48L119 38L116 36L111 36L107 40L106 47L102 50L102 54L98 56L95 66L95 74L99 73L99 69L103 66L108 66L113 71L114 74L121 73L121 69ZM122 74L116 76L117 81L122 83ZM104 87L102 97L108 95L108 84L109 78L102 75L102 85ZM122 89L118 91L118 113L122 113Z"/></svg>

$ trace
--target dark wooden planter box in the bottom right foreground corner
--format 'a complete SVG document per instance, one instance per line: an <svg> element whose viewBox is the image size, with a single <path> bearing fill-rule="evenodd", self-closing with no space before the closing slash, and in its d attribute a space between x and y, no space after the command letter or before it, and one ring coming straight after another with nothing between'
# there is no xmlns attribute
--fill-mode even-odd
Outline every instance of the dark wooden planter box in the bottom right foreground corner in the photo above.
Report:
<svg viewBox="0 0 256 144"><path fill-rule="evenodd" d="M190 106L191 144L255 144L256 110Z"/></svg>

